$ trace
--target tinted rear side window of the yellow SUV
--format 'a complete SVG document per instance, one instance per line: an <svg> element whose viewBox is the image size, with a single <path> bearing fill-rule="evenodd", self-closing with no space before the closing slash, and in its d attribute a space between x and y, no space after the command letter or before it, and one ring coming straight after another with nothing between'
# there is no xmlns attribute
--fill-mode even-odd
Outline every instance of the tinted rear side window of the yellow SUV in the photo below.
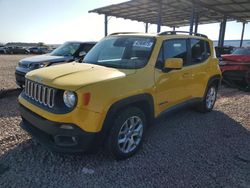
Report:
<svg viewBox="0 0 250 188"><path fill-rule="evenodd" d="M208 42L199 39L191 39L191 64L205 61L210 55Z"/></svg>

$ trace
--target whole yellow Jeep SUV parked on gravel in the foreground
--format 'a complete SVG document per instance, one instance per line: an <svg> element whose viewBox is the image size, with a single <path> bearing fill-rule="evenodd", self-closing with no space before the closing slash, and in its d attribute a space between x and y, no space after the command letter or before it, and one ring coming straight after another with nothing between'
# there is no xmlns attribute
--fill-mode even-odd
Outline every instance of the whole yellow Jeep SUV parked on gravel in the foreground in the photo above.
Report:
<svg viewBox="0 0 250 188"><path fill-rule="evenodd" d="M116 33L82 63L26 75L21 127L56 152L104 144L117 159L135 154L164 112L213 109L221 79L213 43L201 34Z"/></svg>

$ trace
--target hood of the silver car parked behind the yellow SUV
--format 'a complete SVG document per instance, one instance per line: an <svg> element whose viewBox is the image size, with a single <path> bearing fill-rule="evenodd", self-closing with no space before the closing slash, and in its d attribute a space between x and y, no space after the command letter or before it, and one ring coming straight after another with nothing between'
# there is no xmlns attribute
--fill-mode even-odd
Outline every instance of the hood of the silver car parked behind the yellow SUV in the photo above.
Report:
<svg viewBox="0 0 250 188"><path fill-rule="evenodd" d="M20 61L20 64L30 65L32 63L42 63L42 62L56 63L56 62L65 62L70 60L73 60L72 56L53 56L50 54L44 54L22 59Z"/></svg>

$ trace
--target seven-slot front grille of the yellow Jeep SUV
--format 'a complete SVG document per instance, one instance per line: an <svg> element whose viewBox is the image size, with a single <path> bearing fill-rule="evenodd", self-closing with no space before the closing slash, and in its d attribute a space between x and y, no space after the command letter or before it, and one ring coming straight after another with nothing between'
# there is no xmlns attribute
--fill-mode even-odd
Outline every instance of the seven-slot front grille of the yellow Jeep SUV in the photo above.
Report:
<svg viewBox="0 0 250 188"><path fill-rule="evenodd" d="M24 92L30 99L53 108L55 103L55 89L26 79Z"/></svg>

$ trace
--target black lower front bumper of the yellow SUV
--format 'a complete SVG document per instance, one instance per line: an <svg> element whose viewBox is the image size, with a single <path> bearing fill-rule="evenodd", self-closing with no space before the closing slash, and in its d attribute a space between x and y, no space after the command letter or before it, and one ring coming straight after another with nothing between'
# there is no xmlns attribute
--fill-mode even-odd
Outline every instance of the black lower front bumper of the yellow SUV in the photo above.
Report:
<svg viewBox="0 0 250 188"><path fill-rule="evenodd" d="M22 117L20 126L53 152L76 153L97 146L98 133L85 132L74 124L49 121L22 105L19 108ZM62 129L62 125L70 125L73 129Z"/></svg>

